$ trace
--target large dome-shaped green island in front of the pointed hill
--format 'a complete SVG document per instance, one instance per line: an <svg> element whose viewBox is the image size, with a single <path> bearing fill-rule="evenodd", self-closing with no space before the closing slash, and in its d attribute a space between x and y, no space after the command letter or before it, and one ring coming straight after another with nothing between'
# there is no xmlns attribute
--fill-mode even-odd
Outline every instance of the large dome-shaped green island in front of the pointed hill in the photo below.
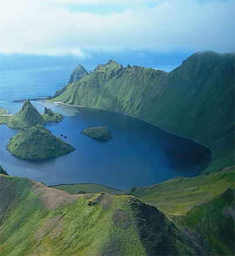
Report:
<svg viewBox="0 0 235 256"><path fill-rule="evenodd" d="M75 150L41 125L20 130L7 148L16 157L34 160L56 158Z"/></svg>

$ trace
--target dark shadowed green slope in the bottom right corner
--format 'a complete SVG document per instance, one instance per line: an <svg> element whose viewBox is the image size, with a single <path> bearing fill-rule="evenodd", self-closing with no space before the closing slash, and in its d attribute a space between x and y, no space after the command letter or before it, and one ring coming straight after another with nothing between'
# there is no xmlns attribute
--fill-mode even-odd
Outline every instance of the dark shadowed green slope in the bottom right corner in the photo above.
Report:
<svg viewBox="0 0 235 256"><path fill-rule="evenodd" d="M234 255L234 210L234 191L227 189L176 222L183 226L184 233L199 240L205 255Z"/></svg>

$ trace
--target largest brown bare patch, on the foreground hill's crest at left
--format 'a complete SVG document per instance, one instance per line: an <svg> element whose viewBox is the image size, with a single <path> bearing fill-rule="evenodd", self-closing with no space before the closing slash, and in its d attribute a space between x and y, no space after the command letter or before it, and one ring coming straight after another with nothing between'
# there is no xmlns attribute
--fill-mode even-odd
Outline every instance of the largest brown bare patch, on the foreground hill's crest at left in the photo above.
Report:
<svg viewBox="0 0 235 256"><path fill-rule="evenodd" d="M65 191L52 189L39 182L34 182L33 189L37 195L40 195L40 201L48 211L63 205L72 204L81 196L81 194L70 195Z"/></svg>

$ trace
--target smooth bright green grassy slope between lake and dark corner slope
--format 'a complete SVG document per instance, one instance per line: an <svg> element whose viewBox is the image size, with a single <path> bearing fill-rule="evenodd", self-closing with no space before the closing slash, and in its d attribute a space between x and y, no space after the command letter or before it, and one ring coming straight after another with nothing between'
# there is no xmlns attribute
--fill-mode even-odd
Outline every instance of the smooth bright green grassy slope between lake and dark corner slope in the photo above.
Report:
<svg viewBox="0 0 235 256"><path fill-rule="evenodd" d="M235 189L234 170L192 178L176 177L131 194L170 214L186 214L195 205L208 202L226 189Z"/></svg>

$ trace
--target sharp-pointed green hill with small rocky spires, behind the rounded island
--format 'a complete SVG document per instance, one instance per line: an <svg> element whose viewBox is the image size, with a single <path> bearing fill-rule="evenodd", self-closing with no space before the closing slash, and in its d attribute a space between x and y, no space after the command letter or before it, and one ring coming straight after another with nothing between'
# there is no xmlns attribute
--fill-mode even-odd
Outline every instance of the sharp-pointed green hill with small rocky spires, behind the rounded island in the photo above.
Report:
<svg viewBox="0 0 235 256"><path fill-rule="evenodd" d="M34 125L44 125L47 121L59 122L63 119L60 113L53 113L47 109L44 115L41 115L29 99L24 101L22 109L12 116L0 116L0 122L6 123L12 129L29 128Z"/></svg>

